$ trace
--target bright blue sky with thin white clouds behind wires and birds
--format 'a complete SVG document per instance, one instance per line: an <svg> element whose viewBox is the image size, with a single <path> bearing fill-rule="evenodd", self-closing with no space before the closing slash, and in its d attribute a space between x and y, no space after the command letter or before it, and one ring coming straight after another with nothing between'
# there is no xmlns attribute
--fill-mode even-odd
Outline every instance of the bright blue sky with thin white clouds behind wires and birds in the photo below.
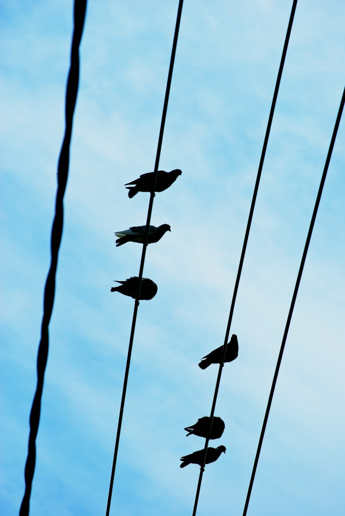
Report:
<svg viewBox="0 0 345 516"><path fill-rule="evenodd" d="M24 492L42 297L72 31L70 2L2 4L2 514ZM291 2L186 0L157 194L167 233L146 253L112 514L191 514L203 446L183 428L211 408L245 225ZM177 2L89 2L43 393L32 514L105 513ZM198 515L242 514L278 350L345 83L345 4L295 14L216 407L226 455L207 466ZM341 121L287 339L248 514L340 514L345 416L345 123ZM217 444L216 444L217 443Z"/></svg>

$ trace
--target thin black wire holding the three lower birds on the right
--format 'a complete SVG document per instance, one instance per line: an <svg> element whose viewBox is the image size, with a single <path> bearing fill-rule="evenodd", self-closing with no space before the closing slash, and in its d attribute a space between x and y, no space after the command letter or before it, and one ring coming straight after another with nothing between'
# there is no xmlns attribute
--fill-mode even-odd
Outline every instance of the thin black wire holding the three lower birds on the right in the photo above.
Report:
<svg viewBox="0 0 345 516"><path fill-rule="evenodd" d="M222 369L223 369L223 365L224 365L224 358L225 358L225 353L226 353L227 341L228 341L228 338L229 338L230 327L231 327L233 313L234 313L234 308L235 308L236 296L237 296L238 286L239 286L239 282L240 282L240 278L241 278L242 266L243 266L243 262L244 262L245 250L247 249L249 232L250 232L251 223L252 223L252 219L253 219L254 207L255 207L257 192L258 192L258 188L259 188L262 167L264 166L266 149L267 149L268 139L269 139L269 135L270 135L270 131L271 131L271 125L272 125L272 120L273 120L275 104L276 104L276 101L277 101L278 90L279 90L279 86L280 86L281 78L282 78L282 74L283 74L284 62L285 62L285 57L286 57L287 48L288 48L288 44L289 44L289 39L290 39L290 34L291 34L291 29L292 29L294 13L295 13L296 6L297 6L297 1L298 0L293 0L293 4L292 4L292 8L291 8L289 24L288 24L287 33L286 33L285 42L284 42L284 47L283 47L283 54L282 54L281 63L280 63L280 67L279 67L279 70L278 70L277 80L276 80L275 89L274 89L274 93L273 93L273 100L272 100L270 115L269 115L269 118L268 118L268 124L267 124L267 129L266 129L266 134L265 134L264 146L262 147L261 158L260 158L259 168L258 168L258 172L257 172L254 192L253 192L253 199L252 199L252 204L251 204L250 212L249 212L249 218L248 218L248 222L247 222L247 229L245 230L243 247L242 247L242 252L241 252L241 257L240 257L240 263L239 263L239 267L238 267L238 271L237 271L237 277L236 277L236 282L235 282L234 294L233 294L233 299L232 299L232 303L231 303L231 308L230 308L227 328L226 328L226 332L225 332L222 360L221 360L220 365L219 365L218 377L217 377L216 388L215 388L215 394L213 396L213 402L212 402L212 408L211 408L211 414L210 414L210 428L209 428L209 432L208 432L208 437L207 437L207 439L205 441L204 456L203 456L203 461L202 461L202 464L201 464L201 467L200 467L199 481L198 481L198 487L196 488L196 494L195 494L195 501L194 501L194 508L193 508L193 515L192 516L195 516L196 509L198 508L198 501L199 501L199 495L200 495L200 489L201 489L201 482L202 482L203 473L204 473L204 469L205 469L207 447L208 447L208 443L209 443L209 439L210 439L213 415L215 414L215 409L216 409L216 402L217 402L217 396L218 396L218 391L219 391L219 384L220 384L220 380L221 380L221 376L222 376Z"/></svg>

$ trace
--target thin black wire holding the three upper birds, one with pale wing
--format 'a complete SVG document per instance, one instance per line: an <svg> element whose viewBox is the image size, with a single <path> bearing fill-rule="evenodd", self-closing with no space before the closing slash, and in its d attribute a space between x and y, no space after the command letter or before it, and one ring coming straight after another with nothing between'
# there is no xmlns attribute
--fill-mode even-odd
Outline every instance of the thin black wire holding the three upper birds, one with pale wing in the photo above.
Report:
<svg viewBox="0 0 345 516"><path fill-rule="evenodd" d="M112 489L113 489L113 483L114 483L114 475L115 475L115 469L116 469L116 462L117 462L117 457L118 457L120 433L121 433L121 425L122 425L122 417L123 417L125 398L126 398L126 390L127 390L127 382L128 382L128 375L129 375L130 358L132 356L134 332L135 332L135 326L136 326L136 321L137 321L137 313L138 313L138 307L139 307L139 296L140 296L140 289L141 289L141 280L142 280L142 275L143 275L143 270L144 270L144 262L145 262L147 239L149 237L149 227L150 227L150 222L151 222L153 200L154 200L154 197L155 197L155 188L156 188L156 182L157 182L157 176L158 176L159 158L160 158L160 152L161 152L161 147L162 147L164 127L165 127L165 122L166 122L166 117L167 117L169 93L170 93L171 80L172 80L172 74L173 74L173 69L174 69L174 61L175 61L175 54L176 54L176 47L177 47L178 31L179 31L181 15L182 15L182 7L183 7L183 0L179 0L178 9L177 9L176 25L175 25L175 34L174 34L174 40L173 40L172 51L171 51L171 58L170 58L170 66L169 66L169 73L168 73L168 80L167 80L166 95L165 95L165 100L164 100L164 104L163 104L162 119L161 119L161 123L160 123L160 131L159 131L159 137L158 137L157 154L156 154L156 161L155 161L155 168L154 168L154 181L153 181L154 184L153 184L153 187L152 187L152 191L150 193L150 202L149 202L149 208L148 208L148 211L147 211L147 220L146 220L146 228L145 228L145 234L144 234L144 242L143 242L143 246L142 246L141 262L140 262L139 277L138 277L138 292L137 292L136 300L135 300L135 303L134 303L132 328L130 330L130 337L129 337L127 362L126 362L125 376L124 376L124 381L123 381L123 389L122 389L121 405L120 405L120 412L119 412L118 429L117 429L116 442L115 442L115 448L114 448L114 456L113 456L113 461L112 461L112 469L111 469L111 476L110 476L110 485L109 485L109 494L108 494L108 503L107 503L107 509L106 509L106 516L109 516L109 512L110 512L111 496L112 496Z"/></svg>

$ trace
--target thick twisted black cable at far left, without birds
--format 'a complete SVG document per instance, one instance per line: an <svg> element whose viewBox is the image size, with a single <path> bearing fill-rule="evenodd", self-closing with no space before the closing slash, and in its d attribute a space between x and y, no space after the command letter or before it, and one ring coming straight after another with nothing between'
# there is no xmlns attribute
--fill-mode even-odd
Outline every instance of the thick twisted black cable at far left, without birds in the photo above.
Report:
<svg viewBox="0 0 345 516"><path fill-rule="evenodd" d="M30 412L30 433L28 442L28 453L25 464L25 492L19 511L20 516L28 516L30 509L30 495L32 479L35 473L36 464L36 437L40 423L41 399L43 392L44 373L48 358L49 333L48 327L51 320L54 297L55 297L55 277L58 262L58 254L61 243L63 228L63 196L67 185L70 143L72 135L72 124L74 108L77 99L79 82L79 45L84 29L86 13L86 0L75 0L74 2L74 28L71 48L71 64L67 80L66 100L65 100L65 133L61 146L58 173L57 173L57 192L55 202L55 216L51 234L51 265L48 271L44 288L43 318L41 327L41 340L37 354L37 386L32 401Z"/></svg>

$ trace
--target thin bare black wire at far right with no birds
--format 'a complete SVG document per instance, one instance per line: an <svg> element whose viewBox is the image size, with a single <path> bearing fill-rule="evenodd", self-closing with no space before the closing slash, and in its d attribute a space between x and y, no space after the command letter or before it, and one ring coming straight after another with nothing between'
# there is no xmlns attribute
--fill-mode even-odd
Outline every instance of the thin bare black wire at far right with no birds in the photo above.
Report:
<svg viewBox="0 0 345 516"><path fill-rule="evenodd" d="M288 331L289 331L289 327L290 327L292 313L293 313L295 301L296 301L296 298L297 298L298 289L299 289L299 286L300 286L300 283L301 283L303 268L304 268L305 260L306 260L306 257L307 257L307 252L308 252L308 247L309 247L309 244L310 244L311 234L313 233L315 219L316 219L316 215L318 213L318 208L319 208L319 204L320 204L320 200L321 200L322 190L323 190L323 186L324 186L326 175L327 175L327 171L328 171L328 166L330 165L331 156L332 156L335 139L336 139L337 132L338 132L338 127L339 127L339 124L340 124L340 119L341 119L344 103L345 103L345 88L344 88L343 93L342 93L342 97L341 97L341 101L340 101L340 106L339 106L339 110L338 110L338 115L337 115L337 119L336 119L336 122L335 122L333 134L332 134L332 139L331 139L331 143L330 143L330 148L328 149L328 153L327 153L327 157L326 157L326 162L325 162L325 166L324 166L324 169L323 169L323 173L322 173L322 177L321 177L321 182L320 182L320 186L319 186L319 191L318 191L318 195L317 195L315 206L314 206L313 215L311 216L309 231L308 231L307 239L306 239L305 246L304 246L304 251L303 251L302 260L301 260L301 264L300 264L300 269L298 271L298 276L297 276L296 284L295 284L293 295L292 295L292 300L291 300L290 310L289 310L289 314L288 314L287 321L286 321L286 326L285 326L285 330L284 330L282 345L281 345L281 349L280 349L280 352L279 352L277 365L275 367L275 372L274 372L274 377L273 377L273 381L272 381L270 395L269 395L269 398L268 398L266 413L265 413L265 417L264 417L264 423L262 424L262 429L261 429L261 433L260 433L260 439L259 439L259 443L258 443L257 450L256 450L256 455L255 455L255 460L254 460L254 465L253 465L253 470L252 470L252 476L251 476L250 483L249 483L247 498L245 499L243 516L245 516L247 514L247 510L248 510L248 505L249 505L249 501L250 501L250 497L251 497L251 493L252 493L252 488L253 488L253 483L254 483L254 478L255 478L255 473L256 473L256 468L257 468L257 463L258 463L259 457L260 457L262 441L264 440L265 430L266 430L267 421L268 421L268 416L270 414L270 409L271 409L271 405L272 405L274 389L275 389L275 385L276 385L276 382L277 382L279 369L280 369L280 366L281 366L281 363L282 363L282 358L283 358L285 343L286 343L286 339L287 339L287 335L288 335Z"/></svg>

